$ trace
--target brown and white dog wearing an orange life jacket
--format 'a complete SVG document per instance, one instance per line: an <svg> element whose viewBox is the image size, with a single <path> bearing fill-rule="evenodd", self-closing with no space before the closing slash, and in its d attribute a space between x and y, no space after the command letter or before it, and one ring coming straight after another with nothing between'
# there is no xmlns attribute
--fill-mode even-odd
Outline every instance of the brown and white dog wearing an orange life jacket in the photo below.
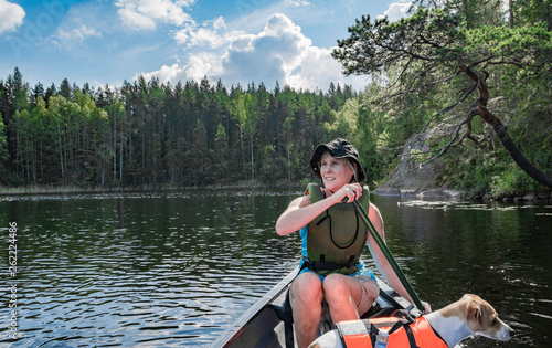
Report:
<svg viewBox="0 0 552 348"><path fill-rule="evenodd" d="M392 318L385 318L392 319ZM381 320L381 319L378 319ZM376 320L375 320L376 321ZM396 321L396 318L395 318ZM393 323L393 321L391 321ZM414 327L420 324L420 327ZM371 324L373 325L373 323ZM391 334L385 330L380 331L380 335L370 338L368 333L367 323L364 320L341 321L336 325L338 328L323 334L318 337L309 348L342 348L343 344L357 341L360 342L359 347L388 347L388 348L402 348L408 347L406 344L400 342L399 338L403 329L397 329ZM347 329L347 326L357 326L357 329ZM401 326L401 325L399 325ZM411 333L410 338L414 337L414 347L420 348L436 348L436 347L455 347L460 340L469 336L479 335L497 340L508 340L516 334L508 325L498 318L497 312L479 296L466 294L460 300L455 302L439 310L426 314L407 325ZM410 328L412 326L412 328ZM359 333L358 328L363 327L364 333ZM349 330L350 336L342 337ZM341 334L340 334L341 331ZM375 329L378 331L378 329ZM424 333L422 333L424 331ZM402 333L405 337L406 334ZM418 337L426 336L426 337ZM427 338L427 336L432 336ZM350 340L347 340L347 338ZM395 338L396 337L396 338ZM410 341L412 346L413 341ZM347 347L354 346L347 344Z"/></svg>

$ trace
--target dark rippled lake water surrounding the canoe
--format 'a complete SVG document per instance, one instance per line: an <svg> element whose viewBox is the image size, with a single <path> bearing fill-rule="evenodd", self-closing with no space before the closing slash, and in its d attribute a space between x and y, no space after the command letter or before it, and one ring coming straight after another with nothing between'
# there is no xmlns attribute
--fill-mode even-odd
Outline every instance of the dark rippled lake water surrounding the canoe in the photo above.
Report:
<svg viewBox="0 0 552 348"><path fill-rule="evenodd" d="M298 235L274 223L298 194L0 197L0 347L209 346L297 264ZM423 300L474 293L518 331L463 347L552 345L552 205L372 200Z"/></svg>

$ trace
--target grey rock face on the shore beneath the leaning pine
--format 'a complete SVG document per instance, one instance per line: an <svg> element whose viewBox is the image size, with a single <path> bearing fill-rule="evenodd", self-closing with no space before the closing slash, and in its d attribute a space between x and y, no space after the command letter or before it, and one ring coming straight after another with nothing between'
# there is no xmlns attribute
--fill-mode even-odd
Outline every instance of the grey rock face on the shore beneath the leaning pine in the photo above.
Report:
<svg viewBox="0 0 552 348"><path fill-rule="evenodd" d="M442 188L437 184L439 171L443 167L440 159L436 159L420 168L411 156L411 151L426 152L429 146L427 140L439 137L443 130L431 129L411 139L401 154L401 162L395 168L390 179L379 186L374 193L379 196L404 196L416 198L460 199L461 191Z"/></svg>

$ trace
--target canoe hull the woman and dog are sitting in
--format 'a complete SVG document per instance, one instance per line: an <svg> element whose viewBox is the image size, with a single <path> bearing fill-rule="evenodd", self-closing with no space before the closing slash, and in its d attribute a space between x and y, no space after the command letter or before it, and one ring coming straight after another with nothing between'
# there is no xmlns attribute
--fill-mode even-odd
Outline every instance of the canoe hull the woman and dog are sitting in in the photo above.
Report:
<svg viewBox="0 0 552 348"><path fill-rule="evenodd" d="M211 348L267 348L294 347L290 335L290 318L286 320L284 304L287 288L296 277L298 270L291 271L268 293L261 297L250 309L232 323L210 346ZM410 302L401 297L386 283L378 280L380 296L376 304L362 318L389 316L395 309L405 309L413 317L422 313ZM289 316L288 316L289 317ZM287 335L286 335L287 331ZM287 346L286 346L287 336Z"/></svg>

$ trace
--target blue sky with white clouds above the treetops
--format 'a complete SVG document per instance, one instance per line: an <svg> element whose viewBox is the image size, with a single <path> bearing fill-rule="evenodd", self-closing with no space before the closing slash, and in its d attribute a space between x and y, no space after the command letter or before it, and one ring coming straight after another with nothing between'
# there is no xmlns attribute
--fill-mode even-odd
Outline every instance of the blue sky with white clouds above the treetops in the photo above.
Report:
<svg viewBox="0 0 552 348"><path fill-rule="evenodd" d="M226 87L278 81L361 91L330 56L354 19L403 17L405 0L0 0L0 80L15 66L34 86L120 86L140 74Z"/></svg>

